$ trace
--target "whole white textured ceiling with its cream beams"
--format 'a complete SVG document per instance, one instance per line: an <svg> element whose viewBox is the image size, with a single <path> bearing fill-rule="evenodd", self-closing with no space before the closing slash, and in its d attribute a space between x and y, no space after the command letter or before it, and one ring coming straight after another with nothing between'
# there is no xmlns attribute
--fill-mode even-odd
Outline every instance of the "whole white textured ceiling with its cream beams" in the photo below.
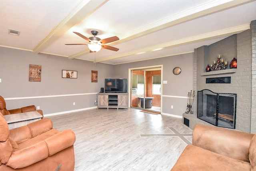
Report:
<svg viewBox="0 0 256 171"><path fill-rule="evenodd" d="M185 54L250 28L255 0L0 0L0 46L122 64ZM20 31L19 36L8 29ZM73 32L101 39L118 36L90 53Z"/></svg>

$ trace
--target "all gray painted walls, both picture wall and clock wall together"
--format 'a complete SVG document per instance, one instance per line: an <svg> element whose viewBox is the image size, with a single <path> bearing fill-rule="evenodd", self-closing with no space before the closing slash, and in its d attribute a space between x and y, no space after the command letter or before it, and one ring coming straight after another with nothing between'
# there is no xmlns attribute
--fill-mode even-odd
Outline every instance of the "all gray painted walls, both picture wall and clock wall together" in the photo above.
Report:
<svg viewBox="0 0 256 171"><path fill-rule="evenodd" d="M95 64L84 60L0 47L0 95L7 109L40 106L44 114L65 113L96 107L94 100L105 78L128 78L128 69L163 65L163 113L182 116L187 93L193 89L193 53L130 64ZM29 82L29 64L42 66L41 82ZM179 66L181 74L172 73ZM78 72L77 79L62 78L62 70ZM91 82L91 70L98 71L98 83ZM73 102L76 105L73 105ZM171 109L171 105L174 109Z"/></svg>

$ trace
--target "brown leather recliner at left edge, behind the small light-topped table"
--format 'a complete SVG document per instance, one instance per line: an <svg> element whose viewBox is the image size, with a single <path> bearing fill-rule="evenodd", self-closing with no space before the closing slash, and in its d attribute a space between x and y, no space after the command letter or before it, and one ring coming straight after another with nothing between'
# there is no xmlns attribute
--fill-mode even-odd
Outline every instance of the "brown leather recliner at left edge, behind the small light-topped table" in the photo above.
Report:
<svg viewBox="0 0 256 171"><path fill-rule="evenodd" d="M7 110L6 102L5 102L4 98L0 95L0 112L3 115L10 115L10 114L14 114L14 113L24 113L24 112L29 112L29 111L37 111L44 117L43 111L40 109L36 110L35 105L30 105L30 106L26 106L26 107L22 107L22 108L18 108L18 109Z"/></svg>

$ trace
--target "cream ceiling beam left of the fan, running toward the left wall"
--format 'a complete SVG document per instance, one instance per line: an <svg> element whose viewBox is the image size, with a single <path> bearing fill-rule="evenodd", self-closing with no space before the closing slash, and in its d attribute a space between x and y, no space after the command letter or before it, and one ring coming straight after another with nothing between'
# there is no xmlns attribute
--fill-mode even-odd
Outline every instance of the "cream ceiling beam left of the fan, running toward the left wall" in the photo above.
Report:
<svg viewBox="0 0 256 171"><path fill-rule="evenodd" d="M108 2L108 0L82 0L76 8L70 12L70 14L58 24L51 32L48 34L40 44L34 48L33 52L38 54L42 52L45 48L47 48L54 41L58 40L61 36L63 36L70 28L80 23L84 18L92 14L96 11L100 6Z"/></svg>

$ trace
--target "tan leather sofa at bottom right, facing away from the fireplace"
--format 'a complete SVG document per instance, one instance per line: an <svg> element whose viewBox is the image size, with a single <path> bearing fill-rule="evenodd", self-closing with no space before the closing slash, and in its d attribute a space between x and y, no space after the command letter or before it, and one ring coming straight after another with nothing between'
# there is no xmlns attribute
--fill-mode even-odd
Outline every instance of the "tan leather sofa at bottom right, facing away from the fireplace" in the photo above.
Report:
<svg viewBox="0 0 256 171"><path fill-rule="evenodd" d="M195 125L188 145L171 171L256 171L254 134Z"/></svg>

